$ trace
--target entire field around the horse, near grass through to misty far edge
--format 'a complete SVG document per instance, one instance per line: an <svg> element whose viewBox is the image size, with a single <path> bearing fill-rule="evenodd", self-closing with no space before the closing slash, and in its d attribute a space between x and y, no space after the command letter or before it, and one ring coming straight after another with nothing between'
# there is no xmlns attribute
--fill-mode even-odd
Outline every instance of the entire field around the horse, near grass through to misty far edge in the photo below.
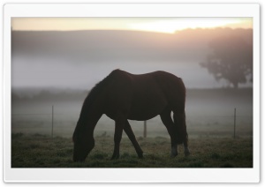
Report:
<svg viewBox="0 0 265 187"><path fill-rule="evenodd" d="M159 116L143 122L130 121L144 151L138 159L125 133L120 159L110 161L115 123L102 116L95 127L95 148L84 163L72 162L72 132L87 93L40 94L33 98L12 97L12 168L252 168L253 90L187 90L186 124L191 155L170 158L170 138ZM51 106L55 106L54 128ZM234 108L237 108L234 139ZM53 131L54 138L51 138Z"/></svg>

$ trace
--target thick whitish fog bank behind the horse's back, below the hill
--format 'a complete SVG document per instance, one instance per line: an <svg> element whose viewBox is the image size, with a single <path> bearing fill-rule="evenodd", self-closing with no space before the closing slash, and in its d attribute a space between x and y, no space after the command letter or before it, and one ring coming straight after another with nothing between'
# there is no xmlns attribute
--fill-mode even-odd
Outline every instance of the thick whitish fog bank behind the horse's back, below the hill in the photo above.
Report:
<svg viewBox="0 0 265 187"><path fill-rule="evenodd" d="M40 59L38 64L28 64L15 60L12 65L13 87L60 87L72 89L91 89L97 82L107 77L111 71L120 69L133 74L152 71L168 71L184 79L190 88L209 88L225 86L225 81L216 82L206 69L199 64L164 63L118 63L102 62L101 64L63 64L63 62L45 62Z"/></svg>

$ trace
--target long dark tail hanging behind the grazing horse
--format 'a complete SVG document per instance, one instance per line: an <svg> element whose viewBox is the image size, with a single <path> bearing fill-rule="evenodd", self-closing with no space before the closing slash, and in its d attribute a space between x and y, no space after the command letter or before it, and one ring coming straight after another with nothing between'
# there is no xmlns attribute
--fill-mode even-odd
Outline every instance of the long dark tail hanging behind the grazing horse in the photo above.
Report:
<svg viewBox="0 0 265 187"><path fill-rule="evenodd" d="M188 134L186 132L186 87L182 81L179 79L178 85L178 109L174 111L174 123L177 131L177 144L187 144Z"/></svg>

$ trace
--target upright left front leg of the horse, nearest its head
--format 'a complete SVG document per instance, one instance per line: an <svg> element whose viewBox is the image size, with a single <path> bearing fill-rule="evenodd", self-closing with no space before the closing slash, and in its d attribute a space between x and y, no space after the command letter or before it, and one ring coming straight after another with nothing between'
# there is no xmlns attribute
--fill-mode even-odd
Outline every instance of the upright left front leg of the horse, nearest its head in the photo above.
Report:
<svg viewBox="0 0 265 187"><path fill-rule="evenodd" d="M124 116L117 116L117 119L115 120L114 151L111 160L119 158L119 144L122 138L125 120Z"/></svg>

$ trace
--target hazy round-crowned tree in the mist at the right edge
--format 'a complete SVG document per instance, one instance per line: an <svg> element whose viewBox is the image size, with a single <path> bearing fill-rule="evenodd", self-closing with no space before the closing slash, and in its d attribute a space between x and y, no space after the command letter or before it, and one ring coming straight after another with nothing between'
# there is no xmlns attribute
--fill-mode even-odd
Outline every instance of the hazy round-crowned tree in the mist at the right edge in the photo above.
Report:
<svg viewBox="0 0 265 187"><path fill-rule="evenodd" d="M253 45L240 37L220 37L209 42L212 53L201 66L215 79L228 80L235 88L239 83L253 81Z"/></svg>

